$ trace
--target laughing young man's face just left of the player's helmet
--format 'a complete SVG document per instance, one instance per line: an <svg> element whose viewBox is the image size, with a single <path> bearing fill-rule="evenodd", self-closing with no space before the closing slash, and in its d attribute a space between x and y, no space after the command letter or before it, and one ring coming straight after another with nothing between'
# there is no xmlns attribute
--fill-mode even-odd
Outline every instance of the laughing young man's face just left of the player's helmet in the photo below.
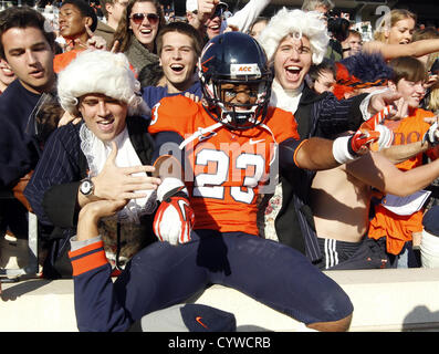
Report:
<svg viewBox="0 0 439 354"><path fill-rule="evenodd" d="M169 93L179 93L190 87L196 64L197 54L189 35L179 32L164 34L160 65Z"/></svg>

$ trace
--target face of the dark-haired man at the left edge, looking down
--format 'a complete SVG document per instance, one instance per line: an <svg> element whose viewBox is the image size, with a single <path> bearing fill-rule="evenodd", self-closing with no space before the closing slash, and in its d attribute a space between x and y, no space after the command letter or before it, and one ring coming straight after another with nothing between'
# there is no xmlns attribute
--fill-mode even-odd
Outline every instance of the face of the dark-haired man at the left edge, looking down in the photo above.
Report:
<svg viewBox="0 0 439 354"><path fill-rule="evenodd" d="M52 88L53 51L40 29L11 28L1 41L9 66L25 88L38 94Z"/></svg>

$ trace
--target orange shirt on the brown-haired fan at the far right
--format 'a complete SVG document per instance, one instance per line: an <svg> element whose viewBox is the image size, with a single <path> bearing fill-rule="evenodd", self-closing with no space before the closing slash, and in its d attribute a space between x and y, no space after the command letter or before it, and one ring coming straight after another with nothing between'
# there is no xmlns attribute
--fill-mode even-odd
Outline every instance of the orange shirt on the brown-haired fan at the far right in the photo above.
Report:
<svg viewBox="0 0 439 354"><path fill-rule="evenodd" d="M386 126L394 134L393 145L407 145L420 142L424 134L430 127L430 124L424 122L426 117L432 117L435 114L421 108L410 110L410 115L400 121L386 121ZM435 159L436 150L430 149L427 155ZM400 170L409 170L422 165L422 153L397 164ZM422 231L424 211L419 210L410 216L399 216L387 210L381 205L375 207L375 217L370 220L368 237L379 239L386 237L387 252L399 254L405 242L411 241L412 232Z"/></svg>

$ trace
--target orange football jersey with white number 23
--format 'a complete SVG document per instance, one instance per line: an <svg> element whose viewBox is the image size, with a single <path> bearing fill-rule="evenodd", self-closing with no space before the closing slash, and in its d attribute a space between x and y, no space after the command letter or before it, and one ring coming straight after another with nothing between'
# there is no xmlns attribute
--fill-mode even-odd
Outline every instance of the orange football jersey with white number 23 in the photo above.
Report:
<svg viewBox="0 0 439 354"><path fill-rule="evenodd" d="M185 96L163 98L153 108L153 135L175 132L186 139L200 129L206 131L185 147L195 229L258 235L257 195L273 167L274 142L299 139L293 115L269 108L263 126L239 132L217 124L201 103Z"/></svg>

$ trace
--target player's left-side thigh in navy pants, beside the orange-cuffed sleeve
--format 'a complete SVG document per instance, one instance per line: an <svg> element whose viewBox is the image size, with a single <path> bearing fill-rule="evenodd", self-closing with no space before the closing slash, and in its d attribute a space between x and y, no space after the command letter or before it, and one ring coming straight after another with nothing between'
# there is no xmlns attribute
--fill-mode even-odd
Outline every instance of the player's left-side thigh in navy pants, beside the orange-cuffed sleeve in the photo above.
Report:
<svg viewBox="0 0 439 354"><path fill-rule="evenodd" d="M208 274L196 267L197 249L197 238L179 246L155 242L133 257L115 281L116 296L133 321L206 287Z"/></svg>

